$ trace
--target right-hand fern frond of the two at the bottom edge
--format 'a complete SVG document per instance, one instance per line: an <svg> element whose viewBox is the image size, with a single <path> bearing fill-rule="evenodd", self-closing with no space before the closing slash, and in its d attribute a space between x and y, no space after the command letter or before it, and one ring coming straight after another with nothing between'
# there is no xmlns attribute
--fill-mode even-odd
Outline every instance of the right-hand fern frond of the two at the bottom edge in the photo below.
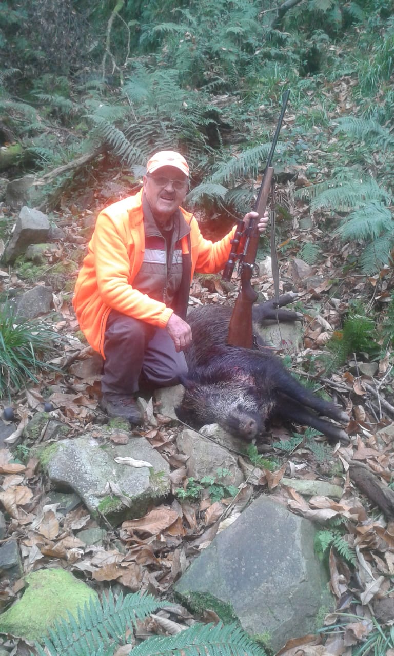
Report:
<svg viewBox="0 0 394 656"><path fill-rule="evenodd" d="M133 656L266 656L235 624L190 626L175 636L148 638L133 649Z"/></svg>

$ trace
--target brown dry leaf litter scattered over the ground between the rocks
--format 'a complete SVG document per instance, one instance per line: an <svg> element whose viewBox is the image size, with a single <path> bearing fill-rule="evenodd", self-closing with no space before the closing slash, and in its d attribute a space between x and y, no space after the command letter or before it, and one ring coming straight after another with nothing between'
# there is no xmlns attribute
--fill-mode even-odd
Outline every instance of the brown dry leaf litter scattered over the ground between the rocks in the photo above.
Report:
<svg viewBox="0 0 394 656"><path fill-rule="evenodd" d="M343 112L349 84L350 78L344 77L336 87ZM311 158L318 163L320 151L311 152ZM324 221L324 212L316 211L313 215L314 230L303 231L299 228L299 220L309 216L309 206L294 199L294 190L308 184L301 166L295 180L286 183L281 190L286 197L288 211L293 216L291 238L282 239L281 292L288 290L288 281L293 281L297 301L305 308L303 350L297 354L295 362L303 375L302 363L324 350L328 339L341 327L343 314L353 298L370 298L373 294L383 304L387 302L388 291L393 287L392 269L369 278L351 271L343 275L343 263L349 255L357 256L357 245L333 242L330 236L326 236L324 230L318 228L320 221ZM67 213L68 209L64 207L64 230L66 235L72 237L70 241L77 243L79 225L71 213L70 216ZM313 276L306 284L302 278L294 283L297 275L290 260L297 257L299 247L294 246L297 240L317 241L322 253L322 263L313 267ZM85 241L83 239L81 243ZM62 258L60 249L56 257ZM334 285L335 280L339 281L338 288L337 283ZM4 289L7 285L6 272L2 273L1 281ZM254 282L265 298L273 296L272 279L262 275L256 277ZM26 286L14 273L9 278L9 284ZM225 298L231 301L235 297L236 290L225 291L217 279L208 286L202 277L196 277L192 282L190 299L196 305L220 303ZM58 292L55 304L62 316L58 329L66 341L62 346L63 352L53 359L53 363L64 367L65 373L38 373L38 384L14 395L12 405L18 417L18 426L6 438L5 447L0 449L0 502L9 515L5 541L16 539L20 544L24 574L56 564L74 571L99 592L108 589L109 585L118 584L123 586L125 592L147 591L165 596L190 560L211 543L218 531L234 522L253 497L270 493L273 499L285 504L292 512L309 518L319 529L328 529L333 521L341 522L343 542L355 554L355 565L350 565L336 546L328 548L330 588L336 598L336 611L326 616L320 633L288 641L276 656L349 656L351 647L365 642L374 630L374 617L382 600L391 602L391 615L389 613L388 619L380 619L380 623L382 626L393 625L391 579L394 576L394 514L391 514L391 483L394 409L389 352L380 359L374 377L362 374L357 363L352 371L344 365L340 371L327 376L324 369L315 375L309 374L310 379L319 382L331 396L336 396L349 412L351 443L348 446L337 445L330 456L321 461L304 440L287 456L279 454L281 462L274 471L253 465L246 457L239 457L246 483L240 486L234 499L213 501L207 491L198 501L178 501L175 497L172 503L161 504L144 517L127 520L118 529L105 525L102 541L87 544L78 537L79 531L98 527L87 509L79 504L64 513L59 504L45 504L47 482L38 470L37 459L30 457L26 464L15 459L15 449L27 421L35 411L43 408L45 401L53 405L50 418L64 422L71 430L70 436L85 430L94 431L95 424L102 421L97 405L100 374L97 363L92 360L91 348L75 337L78 325L68 294ZM51 394L45 398L44 390L48 389L51 389ZM175 494L179 488L186 490L188 482L185 457L175 445L177 430L181 429L173 428L168 419L156 413L157 419L156 426L136 431L135 434L150 441L152 448L158 449L171 464L171 491ZM276 427L273 428L273 436L276 441L290 437L284 428ZM122 430L112 430L109 439L113 443L127 443L128 434ZM39 440L53 441L45 430ZM264 455L274 455L277 459L278 449L268 444ZM138 466L132 462L129 464ZM146 466L146 463L141 466ZM285 476L286 484L282 483ZM343 494L335 500L324 495L314 495L306 500L288 483L288 478L317 482L328 479L341 486ZM363 489L360 487L361 479L365 483ZM108 482L107 485L114 495L119 494L115 482ZM11 604L23 586L22 579L12 584L5 581L0 589L1 604ZM205 621L212 621L213 615L207 609ZM141 635L175 633L193 621L194 617L184 608L174 605L146 621L141 626Z"/></svg>

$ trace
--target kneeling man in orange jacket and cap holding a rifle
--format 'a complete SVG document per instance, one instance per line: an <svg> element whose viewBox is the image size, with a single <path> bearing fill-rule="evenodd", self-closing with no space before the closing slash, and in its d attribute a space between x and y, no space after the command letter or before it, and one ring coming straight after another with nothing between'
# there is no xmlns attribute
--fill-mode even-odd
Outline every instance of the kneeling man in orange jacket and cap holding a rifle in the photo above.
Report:
<svg viewBox="0 0 394 656"><path fill-rule="evenodd" d="M215 273L227 262L234 228L212 243L181 207L189 167L177 152L150 158L142 190L100 212L77 278L74 308L89 344L104 358L103 409L141 422L141 386L176 384L192 341L186 321L194 271ZM248 222L256 213L244 217ZM259 220L259 231L268 218Z"/></svg>

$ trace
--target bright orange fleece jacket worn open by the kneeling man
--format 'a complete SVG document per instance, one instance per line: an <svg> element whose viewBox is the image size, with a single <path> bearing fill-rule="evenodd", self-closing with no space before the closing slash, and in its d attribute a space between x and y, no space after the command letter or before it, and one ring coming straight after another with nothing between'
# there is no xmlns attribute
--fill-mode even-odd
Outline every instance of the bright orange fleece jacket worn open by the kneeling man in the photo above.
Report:
<svg viewBox="0 0 394 656"><path fill-rule="evenodd" d="M194 271L215 273L229 257L235 227L223 239L204 239L195 216L181 208L190 225L191 277ZM88 253L77 277L73 305L87 341L104 357L104 332L110 310L165 327L173 310L133 288L145 247L142 190L106 207L97 217ZM182 251L188 252L187 238ZM191 282L191 280L190 280Z"/></svg>

